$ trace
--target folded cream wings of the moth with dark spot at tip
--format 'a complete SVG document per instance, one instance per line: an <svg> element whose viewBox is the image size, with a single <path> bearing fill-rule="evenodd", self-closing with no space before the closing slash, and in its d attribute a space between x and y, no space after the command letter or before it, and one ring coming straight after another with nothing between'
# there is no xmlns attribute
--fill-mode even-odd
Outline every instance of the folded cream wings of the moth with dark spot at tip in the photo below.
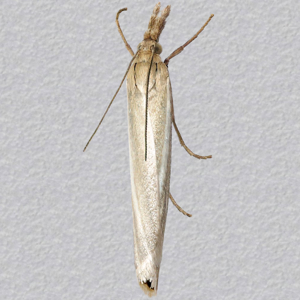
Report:
<svg viewBox="0 0 300 300"><path fill-rule="evenodd" d="M148 70L147 59L137 58L128 73L127 96L135 266L142 289L152 296L157 290L168 210L172 96L168 69L155 55L149 81L145 161Z"/></svg>

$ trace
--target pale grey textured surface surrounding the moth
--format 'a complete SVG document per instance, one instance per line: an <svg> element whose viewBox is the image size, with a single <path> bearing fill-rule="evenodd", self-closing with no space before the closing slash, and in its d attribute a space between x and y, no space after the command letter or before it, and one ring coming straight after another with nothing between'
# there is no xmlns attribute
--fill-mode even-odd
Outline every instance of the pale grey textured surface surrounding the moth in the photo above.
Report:
<svg viewBox="0 0 300 300"><path fill-rule="evenodd" d="M133 262L126 91L82 152L152 1L1 1L0 298L146 299ZM177 124L157 299L300 295L300 2L172 1Z"/></svg>

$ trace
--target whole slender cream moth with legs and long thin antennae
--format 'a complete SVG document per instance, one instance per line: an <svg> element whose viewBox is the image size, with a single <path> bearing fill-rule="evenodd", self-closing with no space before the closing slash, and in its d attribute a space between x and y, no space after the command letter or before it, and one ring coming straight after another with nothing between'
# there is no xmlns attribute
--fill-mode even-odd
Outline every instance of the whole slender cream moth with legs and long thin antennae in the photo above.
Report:
<svg viewBox="0 0 300 300"><path fill-rule="evenodd" d="M212 157L193 153L182 139L175 122L168 64L198 37L213 15L190 40L163 62L160 58L162 46L158 41L170 9L167 6L159 15L160 3L155 5L144 40L138 45L136 53L127 43L118 21L120 13L127 8L117 13L118 30L133 57L117 92L86 145L97 132L127 77L135 268L139 285L150 297L157 293L169 198L180 212L191 217L170 193L172 124L181 145L190 155L198 159Z"/></svg>

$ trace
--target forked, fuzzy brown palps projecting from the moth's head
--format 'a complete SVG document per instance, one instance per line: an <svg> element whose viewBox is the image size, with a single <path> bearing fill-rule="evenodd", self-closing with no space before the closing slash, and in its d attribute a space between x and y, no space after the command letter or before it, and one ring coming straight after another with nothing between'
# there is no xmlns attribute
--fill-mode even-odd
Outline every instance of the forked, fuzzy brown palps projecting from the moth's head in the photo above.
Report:
<svg viewBox="0 0 300 300"><path fill-rule="evenodd" d="M171 6L168 5L164 10L162 10L161 15L158 16L160 11L160 2L155 5L153 13L150 17L148 30L144 34L144 40L150 39L158 43L159 36L166 25L166 19L170 14L170 10Z"/></svg>

